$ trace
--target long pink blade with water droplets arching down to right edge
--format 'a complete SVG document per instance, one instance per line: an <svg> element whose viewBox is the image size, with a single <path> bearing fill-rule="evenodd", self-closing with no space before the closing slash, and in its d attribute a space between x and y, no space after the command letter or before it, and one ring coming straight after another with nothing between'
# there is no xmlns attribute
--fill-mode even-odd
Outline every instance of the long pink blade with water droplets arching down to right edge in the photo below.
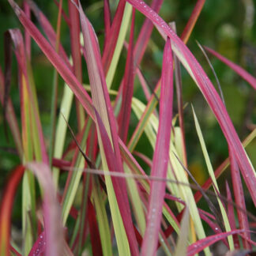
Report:
<svg viewBox="0 0 256 256"><path fill-rule="evenodd" d="M213 114L216 116L216 119L220 124L220 128L228 141L228 145L235 155L235 160L239 164L243 179L245 180L247 188L250 191L254 205L256 205L256 175L254 168L250 164L247 154L243 149L243 145L235 132L235 128L228 115L226 107L224 106L222 100L220 100L220 96L216 92L212 82L209 80L209 77L207 77L205 71L201 68L200 64L196 58L194 58L194 55L191 54L186 45L179 39L178 36L176 36L175 32L173 32L168 24L166 24L164 20L157 15L157 13L149 8L145 2L139 0L127 0L127 2L130 2L132 6L148 17L160 30L161 34L171 38L174 51L176 53L179 52L179 60L183 62L184 66L191 73L191 75L193 74L194 80L197 81L197 85L202 94L205 96L205 100L208 102L209 107L211 107Z"/></svg>

